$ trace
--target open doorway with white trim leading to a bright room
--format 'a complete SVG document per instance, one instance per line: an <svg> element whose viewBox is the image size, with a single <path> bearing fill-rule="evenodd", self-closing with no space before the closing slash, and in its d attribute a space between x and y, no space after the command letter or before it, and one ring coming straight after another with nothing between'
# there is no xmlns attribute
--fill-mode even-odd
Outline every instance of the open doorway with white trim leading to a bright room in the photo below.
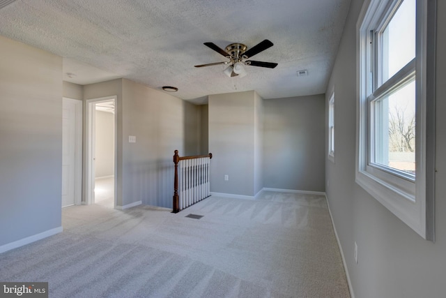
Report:
<svg viewBox="0 0 446 298"><path fill-rule="evenodd" d="M86 204L116 206L116 96L86 100Z"/></svg>

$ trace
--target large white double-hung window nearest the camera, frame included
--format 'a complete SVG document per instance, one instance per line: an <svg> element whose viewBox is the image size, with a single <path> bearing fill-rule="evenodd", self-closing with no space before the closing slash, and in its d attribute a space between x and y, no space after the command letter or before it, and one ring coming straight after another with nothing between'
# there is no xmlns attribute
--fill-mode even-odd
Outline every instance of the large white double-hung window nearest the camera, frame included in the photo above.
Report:
<svg viewBox="0 0 446 298"><path fill-rule="evenodd" d="M433 2L366 0L357 26L357 184L431 240Z"/></svg>

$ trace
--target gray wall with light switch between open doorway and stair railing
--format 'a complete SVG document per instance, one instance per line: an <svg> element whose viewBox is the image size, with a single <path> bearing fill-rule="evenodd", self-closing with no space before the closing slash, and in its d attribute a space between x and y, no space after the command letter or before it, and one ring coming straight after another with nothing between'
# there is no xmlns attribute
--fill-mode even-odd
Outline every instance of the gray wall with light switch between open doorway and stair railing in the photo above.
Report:
<svg viewBox="0 0 446 298"><path fill-rule="evenodd" d="M151 89L143 84L123 80L123 202L141 201L172 208L174 163L178 149L185 152L185 130L194 140L198 128L186 124L185 111L195 113L191 103ZM191 118L196 119L194 114ZM192 121L194 122L194 121ZM188 127L188 128L186 128ZM129 135L136 143L126 142Z"/></svg>

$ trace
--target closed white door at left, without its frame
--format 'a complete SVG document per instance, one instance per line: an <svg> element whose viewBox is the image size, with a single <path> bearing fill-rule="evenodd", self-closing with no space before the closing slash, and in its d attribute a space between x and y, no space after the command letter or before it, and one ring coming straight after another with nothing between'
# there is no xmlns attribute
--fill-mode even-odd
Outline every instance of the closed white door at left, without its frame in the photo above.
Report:
<svg viewBox="0 0 446 298"><path fill-rule="evenodd" d="M63 98L62 119L62 207L76 203L77 187L77 114L79 100ZM82 103L81 103L82 104ZM80 181L80 179L79 179Z"/></svg>

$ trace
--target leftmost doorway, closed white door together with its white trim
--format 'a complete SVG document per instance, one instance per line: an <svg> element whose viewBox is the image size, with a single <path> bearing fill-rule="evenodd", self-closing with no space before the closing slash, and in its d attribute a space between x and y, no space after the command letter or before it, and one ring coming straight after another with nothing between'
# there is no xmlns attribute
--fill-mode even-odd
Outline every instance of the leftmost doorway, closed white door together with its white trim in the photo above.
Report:
<svg viewBox="0 0 446 298"><path fill-rule="evenodd" d="M62 98L62 207L82 201L82 100Z"/></svg>

